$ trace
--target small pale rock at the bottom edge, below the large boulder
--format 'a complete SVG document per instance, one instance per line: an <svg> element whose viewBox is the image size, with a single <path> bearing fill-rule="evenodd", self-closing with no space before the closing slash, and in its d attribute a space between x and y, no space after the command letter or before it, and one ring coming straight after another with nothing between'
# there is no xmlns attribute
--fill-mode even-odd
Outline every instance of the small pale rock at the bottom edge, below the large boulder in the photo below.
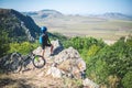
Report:
<svg viewBox="0 0 132 88"><path fill-rule="evenodd" d="M88 78L86 78L85 80L82 80L82 85L85 87L88 87L88 88L99 88L99 86L97 84L95 84L94 81L91 81Z"/></svg>

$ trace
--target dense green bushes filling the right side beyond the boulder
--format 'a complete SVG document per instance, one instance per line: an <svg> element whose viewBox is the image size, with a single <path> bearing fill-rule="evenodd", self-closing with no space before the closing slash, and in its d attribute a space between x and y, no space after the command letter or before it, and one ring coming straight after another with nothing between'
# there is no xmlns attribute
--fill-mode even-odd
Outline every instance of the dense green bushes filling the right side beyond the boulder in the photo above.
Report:
<svg viewBox="0 0 132 88"><path fill-rule="evenodd" d="M87 77L101 86L130 88L132 79L132 37L121 37L111 46L94 37L72 37L64 43L79 51L87 64Z"/></svg>

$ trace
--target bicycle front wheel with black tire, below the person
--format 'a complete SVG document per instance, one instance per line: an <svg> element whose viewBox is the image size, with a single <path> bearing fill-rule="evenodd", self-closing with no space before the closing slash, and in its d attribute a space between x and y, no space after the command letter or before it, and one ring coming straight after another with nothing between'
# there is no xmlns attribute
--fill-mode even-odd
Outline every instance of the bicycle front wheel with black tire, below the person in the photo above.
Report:
<svg viewBox="0 0 132 88"><path fill-rule="evenodd" d="M46 61L44 59L43 56L41 55L35 55L34 58L32 59L33 62L33 65L36 67L36 68L42 68L44 67L44 65L46 64Z"/></svg>

